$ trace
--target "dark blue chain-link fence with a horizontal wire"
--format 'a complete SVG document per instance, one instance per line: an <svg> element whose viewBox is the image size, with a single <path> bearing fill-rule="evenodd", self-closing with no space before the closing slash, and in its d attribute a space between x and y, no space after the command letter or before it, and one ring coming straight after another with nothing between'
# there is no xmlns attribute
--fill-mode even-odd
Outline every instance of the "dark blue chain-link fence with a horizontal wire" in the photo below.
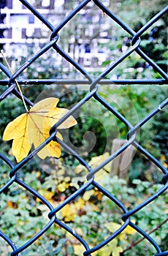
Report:
<svg viewBox="0 0 168 256"><path fill-rule="evenodd" d="M21 255L22 252L24 252L25 249L28 247L31 247L32 244L36 243L36 241L49 230L53 225L58 225L59 227L62 227L64 230L67 232L71 233L72 236L74 236L77 241L79 241L80 244L82 244L85 248L85 252L83 255L92 255L93 252L97 252L99 249L101 249L103 246L106 246L107 244L110 243L114 238L116 238L123 230L126 229L127 226L132 227L134 230L137 231L137 233L140 233L140 235L145 238L149 244L155 247L156 249L156 256L161 256L161 255L168 255L168 251L161 251L160 246L157 244L157 242L150 236L148 233L145 232L145 230L142 230L141 227L137 226L134 224L134 222L131 221L131 217L134 217L134 214L136 214L138 211L140 211L142 208L145 208L145 206L148 206L151 202L153 202L157 197L162 195L168 187L168 172L167 169L164 167L164 165L161 164L155 157L153 157L152 154L150 154L145 148L140 146L140 144L136 140L136 133L150 120L152 120L153 116L156 116L159 111L161 111L168 103L168 99L164 100L164 102L160 102L159 106L155 109L153 109L152 112L148 113L145 118L142 118L135 126L131 125L128 120L124 116L121 115L121 113L118 112L118 110L115 110L115 108L110 105L107 100L103 99L102 96L99 94L99 86L101 84L120 84L120 85L130 85L130 84L137 84L137 85L165 85L167 84L167 74L164 72L164 70L161 69L152 59L148 57L148 55L140 48L140 43L141 43L141 36L142 34L147 31L148 28L153 26L154 23L156 23L157 20L159 20L163 15L167 13L168 7L164 8L161 10L157 15L155 15L152 19L148 21L148 23L145 24L145 26L142 26L142 28L135 32L132 30L129 25L124 23L120 18L118 18L116 15L114 15L111 10L109 10L107 7L104 6L102 1L94 0L93 3L96 4L97 7L106 15L109 16L109 18L112 21L115 21L115 23L118 23L123 30L128 32L131 36L131 46L129 49L126 51L126 53L121 54L118 59L116 59L112 64L110 64L107 69L104 70L104 72L101 73L101 75L97 76L96 78L92 78L92 76L89 74L89 72L86 72L86 70L80 66L80 64L75 61L75 59L72 59L71 56L69 56L59 45L58 45L58 39L59 39L59 32L61 29L66 26L67 23L69 23L69 20L72 20L75 15L77 15L80 10L83 9L91 0L85 0L80 2L80 4L77 4L77 7L75 10L72 10L72 12L69 13L69 15L64 18L61 23L59 23L58 26L53 26L43 15L41 15L28 1L25 0L20 0L20 2L31 12L36 16L37 19L41 20L42 23L47 27L47 29L50 29L51 31L51 36L50 39L48 39L48 43L41 49L39 50L38 53L34 54L34 56L31 59L28 59L21 67L18 68L18 70L14 73L11 74L11 72L7 69L7 67L4 67L3 64L0 64L1 71L4 72L5 75L9 78L9 80L1 80L1 86L7 86L8 88L4 91L3 94L1 94L1 101L6 99L9 95L13 94L15 97L18 97L21 99L20 92L18 91L16 87L16 80L18 80L18 83L21 84L52 84L52 83L57 83L60 86L64 83L69 83L69 84L89 84L89 90L88 93L81 99L79 102L77 102L71 110L69 110L66 115L61 118L56 124L53 125L53 127L50 129L50 137L47 138L45 143L42 143L38 148L34 149L30 154L28 154L28 157L20 161L17 165L14 165L4 154L0 154L1 161L6 163L10 167L10 173L9 173L9 181L7 184L4 184L4 187L1 187L0 193L1 195L5 194L5 191L9 188L12 187L13 184L17 183L24 189L26 189L28 192L31 193L34 197L38 198L39 200L44 203L45 206L49 209L50 213L48 214L48 222L45 227L43 227L38 233L34 234L33 237L29 241L27 241L25 244L22 246L18 247L17 244L14 244L8 236L6 236L5 233L0 231L0 236L4 241L9 244L9 246L12 249L11 255ZM44 53L47 52L47 50L50 50L50 48L53 48L56 50L58 55L61 55L66 61L69 61L70 64L72 64L75 69L77 69L78 72L80 72L82 75L85 76L85 80L69 80L69 81L64 81L64 80L54 80L54 79L49 79L49 80L20 80L18 79L18 76L28 67L31 66L31 64L34 63L40 56L42 56ZM161 75L161 79L131 79L131 80L104 80L105 76L108 75L112 69L117 67L123 60L125 60L128 56L131 55L131 53L136 52L142 59L144 59L148 64L150 64L153 69L156 70L156 72ZM28 105L33 105L33 103L27 98L24 97L25 102ZM56 137L56 132L57 128L59 125L61 125L66 118L69 116L75 114L77 110L79 110L83 105L85 105L85 102L88 102L90 99L95 99L97 102L99 102L101 105L104 106L112 115L114 115L118 120L120 120L126 127L128 127L129 132L127 134L127 141L126 143L121 146L117 151L113 152L110 157L108 157L106 160L104 160L99 166L95 167L94 169L91 168L91 166L88 165L88 162L83 159L83 157L80 157L77 152L75 152L71 147L69 147L64 141L60 140L59 138ZM3 115L3 109L1 109L1 115ZM43 147L46 146L47 143L50 143L51 140L56 140L58 143L64 148L65 151L68 151L69 154L72 154L72 156L80 163L80 165L83 165L87 170L88 170L88 175L87 175L87 180L85 184L83 184L77 191L72 193L69 197L66 197L63 203L61 203L58 207L53 207L50 202L43 197L42 195L39 194L36 190L34 190L32 187L28 186L25 182L21 180L21 178L18 178L18 173L20 173L21 168L25 167L28 162L31 162L33 157L37 154L38 151L40 151ZM94 181L94 176L96 173L99 173L102 168L104 168L107 164L112 162L113 159L118 157L123 151L126 151L126 148L128 148L130 145L134 146L134 148L137 148L137 151L140 151L147 159L150 159L151 162L153 162L154 165L159 167L159 170L163 173L163 185L159 191L156 191L154 195L151 195L148 197L146 200L142 200L142 203L137 205L136 207L132 208L130 211L124 204L121 202L121 200L118 199L118 197L115 197L112 195L110 192L107 191L104 187L102 187L98 182ZM99 192L102 193L102 195L105 195L106 197L109 198L109 200L112 200L113 203L115 203L118 208L121 208L121 211L123 212L122 220L123 220L123 225L121 225L118 230L115 230L114 233L111 233L111 235L104 239L101 243L97 244L96 246L93 246L91 248L87 241L83 239L83 236L80 236L77 234L71 227L69 227L68 224L60 221L57 217L57 214L59 211L61 211L64 206L68 205L71 203L77 196L83 196L83 192L88 189L90 186L95 187L98 189ZM3 214L3 212L2 212ZM159 224L159 223L158 223Z"/></svg>

